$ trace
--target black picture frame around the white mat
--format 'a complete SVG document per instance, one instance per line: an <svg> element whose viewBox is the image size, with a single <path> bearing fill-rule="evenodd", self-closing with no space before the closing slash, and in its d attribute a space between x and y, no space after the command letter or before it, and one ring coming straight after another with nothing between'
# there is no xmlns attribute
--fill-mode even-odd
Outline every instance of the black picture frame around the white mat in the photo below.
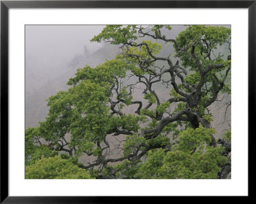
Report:
<svg viewBox="0 0 256 204"><path fill-rule="evenodd" d="M134 198L8 194L8 10L10 8L248 8L248 136L255 136L256 0L253 1L1 1L1 200L0 203L122 203ZM254 134L253 134L254 133ZM250 139L250 137L248 137ZM250 144L250 142L249 142ZM249 152L248 152L248 155ZM249 182L249 180L248 180ZM250 191L249 191L250 192ZM248 192L248 195L249 195ZM249 196L248 196L249 197ZM188 198L188 196L187 196ZM139 200L140 199L140 200ZM175 199L175 198L172 198ZM197 199L189 198L191 201ZM218 198L217 198L218 199ZM145 198L136 201L145 202ZM152 200L152 198L150 198ZM159 198L157 198L159 202ZM215 199L214 199L215 200Z"/></svg>

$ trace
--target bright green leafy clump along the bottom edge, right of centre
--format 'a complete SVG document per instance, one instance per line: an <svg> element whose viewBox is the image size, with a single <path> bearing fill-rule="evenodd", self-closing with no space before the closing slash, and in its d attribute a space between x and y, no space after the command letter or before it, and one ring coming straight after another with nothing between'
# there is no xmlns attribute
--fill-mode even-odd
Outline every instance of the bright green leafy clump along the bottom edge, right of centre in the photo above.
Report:
<svg viewBox="0 0 256 204"><path fill-rule="evenodd" d="M148 152L147 161L138 168L134 177L162 179L209 179L216 178L220 164L227 158L221 156L223 148L207 147L205 152L197 151L192 155L182 150Z"/></svg>

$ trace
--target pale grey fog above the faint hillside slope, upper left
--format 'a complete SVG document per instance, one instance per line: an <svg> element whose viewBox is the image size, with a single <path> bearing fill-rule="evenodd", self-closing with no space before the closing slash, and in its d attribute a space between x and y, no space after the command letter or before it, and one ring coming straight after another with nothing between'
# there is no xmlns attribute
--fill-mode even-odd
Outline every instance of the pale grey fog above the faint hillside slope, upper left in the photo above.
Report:
<svg viewBox="0 0 256 204"><path fill-rule="evenodd" d="M26 94L44 86L73 68L77 61L96 51L102 44L90 42L104 26L27 25Z"/></svg>

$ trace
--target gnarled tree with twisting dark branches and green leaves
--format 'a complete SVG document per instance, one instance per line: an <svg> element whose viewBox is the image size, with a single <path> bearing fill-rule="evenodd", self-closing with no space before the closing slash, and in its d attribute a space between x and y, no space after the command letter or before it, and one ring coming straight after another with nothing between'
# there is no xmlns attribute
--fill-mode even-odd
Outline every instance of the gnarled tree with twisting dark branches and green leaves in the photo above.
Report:
<svg viewBox="0 0 256 204"><path fill-rule="evenodd" d="M26 129L26 178L219 178L229 157L207 107L230 94L230 29L170 36L164 25L94 36L120 54L77 69L68 91L49 97L45 122Z"/></svg>

